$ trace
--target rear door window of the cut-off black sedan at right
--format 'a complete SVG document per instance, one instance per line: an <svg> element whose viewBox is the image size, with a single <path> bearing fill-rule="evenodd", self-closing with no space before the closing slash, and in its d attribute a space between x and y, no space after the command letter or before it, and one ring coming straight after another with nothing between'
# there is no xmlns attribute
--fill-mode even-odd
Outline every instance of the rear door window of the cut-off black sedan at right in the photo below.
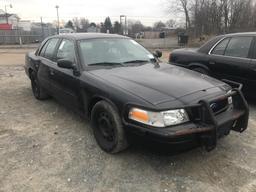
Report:
<svg viewBox="0 0 256 192"><path fill-rule="evenodd" d="M226 56L247 58L252 43L252 37L233 37L225 51Z"/></svg>

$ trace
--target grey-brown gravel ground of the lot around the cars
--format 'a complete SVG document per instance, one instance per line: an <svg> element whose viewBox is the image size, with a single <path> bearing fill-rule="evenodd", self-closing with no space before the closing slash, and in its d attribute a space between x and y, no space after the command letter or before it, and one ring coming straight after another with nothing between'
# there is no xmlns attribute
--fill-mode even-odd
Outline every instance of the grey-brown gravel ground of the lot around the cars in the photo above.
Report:
<svg viewBox="0 0 256 192"><path fill-rule="evenodd" d="M33 98L25 51L0 50L1 192L256 191L256 104L248 130L232 132L210 153L158 154L135 145L109 155L88 122L55 100Z"/></svg>

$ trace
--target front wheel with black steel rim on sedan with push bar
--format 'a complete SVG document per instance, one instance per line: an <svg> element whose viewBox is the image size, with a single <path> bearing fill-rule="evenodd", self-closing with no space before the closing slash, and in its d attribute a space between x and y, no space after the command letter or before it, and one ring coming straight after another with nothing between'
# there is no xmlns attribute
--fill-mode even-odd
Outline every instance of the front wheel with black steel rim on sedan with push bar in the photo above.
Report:
<svg viewBox="0 0 256 192"><path fill-rule="evenodd" d="M91 113L94 137L102 150L118 153L128 147L121 118L117 110L106 101L95 104Z"/></svg>

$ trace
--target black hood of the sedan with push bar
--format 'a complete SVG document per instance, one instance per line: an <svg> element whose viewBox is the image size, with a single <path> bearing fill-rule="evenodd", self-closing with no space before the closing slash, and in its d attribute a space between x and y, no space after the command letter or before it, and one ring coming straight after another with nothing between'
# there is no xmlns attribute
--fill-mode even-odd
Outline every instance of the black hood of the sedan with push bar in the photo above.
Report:
<svg viewBox="0 0 256 192"><path fill-rule="evenodd" d="M95 69L90 73L153 105L173 100L182 101L182 97L197 92L202 92L205 96L206 90L216 87L219 91L223 91L219 87L224 84L206 75L170 64L160 64L160 67L155 67L149 63L140 66Z"/></svg>

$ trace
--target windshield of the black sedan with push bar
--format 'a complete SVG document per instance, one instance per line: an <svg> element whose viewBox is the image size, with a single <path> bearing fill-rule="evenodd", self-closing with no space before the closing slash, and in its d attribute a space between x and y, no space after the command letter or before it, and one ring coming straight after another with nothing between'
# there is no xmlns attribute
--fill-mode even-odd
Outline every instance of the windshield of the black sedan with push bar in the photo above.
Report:
<svg viewBox="0 0 256 192"><path fill-rule="evenodd" d="M86 65L150 62L154 56L131 39L90 39L80 42L81 57Z"/></svg>

